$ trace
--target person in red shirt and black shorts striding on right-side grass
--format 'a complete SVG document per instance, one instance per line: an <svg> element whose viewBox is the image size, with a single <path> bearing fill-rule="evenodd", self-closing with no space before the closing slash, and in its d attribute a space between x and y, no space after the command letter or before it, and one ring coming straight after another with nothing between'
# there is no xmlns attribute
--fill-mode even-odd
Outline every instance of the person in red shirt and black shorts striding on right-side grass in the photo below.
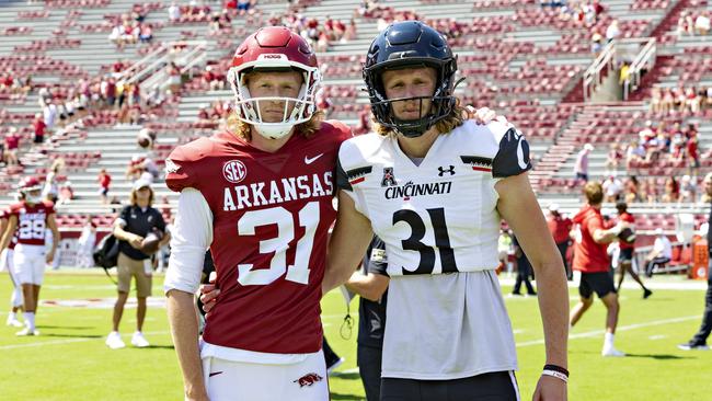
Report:
<svg viewBox="0 0 712 401"><path fill-rule="evenodd" d="M619 221L613 228L606 229L600 207L604 200L604 188L600 183L592 181L584 186L587 204L576 214L573 221L576 231L573 268L582 272L578 294L581 300L571 311L571 326L576 325L586 310L594 302L594 293L604 302L607 309L606 334L604 340L602 356L625 356L613 345L616 326L620 305L609 274L610 257L607 253L608 244L618 239L618 234L627 227Z"/></svg>

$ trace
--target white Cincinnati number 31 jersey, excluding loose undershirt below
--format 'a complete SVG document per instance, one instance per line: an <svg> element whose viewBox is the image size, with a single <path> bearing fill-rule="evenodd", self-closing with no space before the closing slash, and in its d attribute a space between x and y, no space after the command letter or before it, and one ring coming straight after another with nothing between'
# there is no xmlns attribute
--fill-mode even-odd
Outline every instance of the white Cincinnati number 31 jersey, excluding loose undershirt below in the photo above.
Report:
<svg viewBox="0 0 712 401"><path fill-rule="evenodd" d="M338 162L338 185L386 243L391 277L494 270L494 185L530 168L524 137L498 122L440 135L420 165L376 134L346 140Z"/></svg>

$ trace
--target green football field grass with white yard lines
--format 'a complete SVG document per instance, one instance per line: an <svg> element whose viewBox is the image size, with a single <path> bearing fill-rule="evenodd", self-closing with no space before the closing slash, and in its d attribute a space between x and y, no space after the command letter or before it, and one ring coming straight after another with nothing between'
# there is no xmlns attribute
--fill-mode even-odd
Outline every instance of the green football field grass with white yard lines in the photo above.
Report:
<svg viewBox="0 0 712 401"><path fill-rule="evenodd" d="M112 351L104 345L111 330L114 286L103 275L48 273L37 317L41 335L16 337L15 328L0 328L0 400L182 400L181 376L172 347L162 276L154 282L145 333L150 348ZM3 273L5 275L7 273ZM617 347L625 358L602 358L605 308L597 301L570 340L570 400L712 400L712 352L679 351L676 344L694 333L703 309L703 286L659 289L679 277L656 277L655 294L641 299L638 288L623 288ZM0 280L0 300L9 306L11 285ZM505 293L508 290L504 286ZM576 290L571 289L572 302ZM519 356L522 399L531 398L543 365L543 345L536 298L506 298ZM338 291L324 298L323 321L333 348L346 358L330 378L333 400L363 399L356 368L356 332L342 337L346 312ZM3 308L4 309L4 308ZM357 319L357 300L352 312ZM128 344L135 309L122 323ZM446 330L444 328L444 330ZM343 334L347 334L343 332Z"/></svg>

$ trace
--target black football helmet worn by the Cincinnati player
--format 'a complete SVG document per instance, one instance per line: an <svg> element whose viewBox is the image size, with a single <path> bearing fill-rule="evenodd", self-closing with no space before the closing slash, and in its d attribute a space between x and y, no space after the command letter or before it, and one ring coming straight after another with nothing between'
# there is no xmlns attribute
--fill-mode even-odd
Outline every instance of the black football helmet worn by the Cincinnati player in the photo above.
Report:
<svg viewBox="0 0 712 401"><path fill-rule="evenodd" d="M399 119L393 114L392 102L413 99L422 102L423 98L387 99L381 73L384 70L417 67L432 67L437 75L430 111L417 119ZM364 65L364 81L376 121L410 138L423 135L455 107L456 71L457 57L452 56L446 38L437 31L420 21L389 25L371 43Z"/></svg>

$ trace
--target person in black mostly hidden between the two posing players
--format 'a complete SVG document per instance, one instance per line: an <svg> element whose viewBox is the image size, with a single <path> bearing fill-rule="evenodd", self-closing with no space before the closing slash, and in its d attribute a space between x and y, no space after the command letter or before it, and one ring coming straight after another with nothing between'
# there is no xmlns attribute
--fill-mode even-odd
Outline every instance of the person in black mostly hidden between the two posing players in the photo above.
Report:
<svg viewBox="0 0 712 401"><path fill-rule="evenodd" d="M345 284L346 288L360 295L356 358L368 401L379 400L381 392L381 354L390 280L387 267L386 244L374 237L364 257L363 274L355 273Z"/></svg>

